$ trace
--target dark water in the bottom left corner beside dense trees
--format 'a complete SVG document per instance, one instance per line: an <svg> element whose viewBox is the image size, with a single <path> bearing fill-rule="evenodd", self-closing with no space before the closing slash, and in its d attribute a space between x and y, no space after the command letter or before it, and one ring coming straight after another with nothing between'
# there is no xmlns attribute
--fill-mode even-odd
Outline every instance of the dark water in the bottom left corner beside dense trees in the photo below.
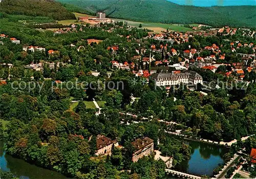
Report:
<svg viewBox="0 0 256 179"><path fill-rule="evenodd" d="M3 171L11 171L19 178L68 178L56 171L29 164L22 159L13 158L4 150L4 142L0 141L0 167Z"/></svg>

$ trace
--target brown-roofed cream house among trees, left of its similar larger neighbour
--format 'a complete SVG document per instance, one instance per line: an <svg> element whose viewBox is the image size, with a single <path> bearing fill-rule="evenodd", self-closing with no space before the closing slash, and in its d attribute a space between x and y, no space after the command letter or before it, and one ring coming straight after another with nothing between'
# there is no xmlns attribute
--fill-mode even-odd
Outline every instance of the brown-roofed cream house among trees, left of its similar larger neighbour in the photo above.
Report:
<svg viewBox="0 0 256 179"><path fill-rule="evenodd" d="M112 141L110 138L103 135L98 135L96 138L97 151L95 155L111 155L113 145L118 146L118 142Z"/></svg>

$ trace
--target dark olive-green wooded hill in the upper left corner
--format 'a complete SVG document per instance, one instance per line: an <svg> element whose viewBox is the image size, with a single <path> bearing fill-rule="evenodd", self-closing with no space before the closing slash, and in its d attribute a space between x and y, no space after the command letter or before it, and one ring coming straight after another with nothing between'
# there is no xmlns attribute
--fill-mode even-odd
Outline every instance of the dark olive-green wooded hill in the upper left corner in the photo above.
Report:
<svg viewBox="0 0 256 179"><path fill-rule="evenodd" d="M28 16L48 16L55 20L75 19L60 3L44 0L2 0L0 12Z"/></svg>

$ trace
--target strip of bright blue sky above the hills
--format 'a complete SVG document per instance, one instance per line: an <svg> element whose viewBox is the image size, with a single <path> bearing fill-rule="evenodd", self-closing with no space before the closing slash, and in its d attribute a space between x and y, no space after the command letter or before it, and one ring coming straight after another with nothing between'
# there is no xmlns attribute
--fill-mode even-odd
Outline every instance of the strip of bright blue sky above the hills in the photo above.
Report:
<svg viewBox="0 0 256 179"><path fill-rule="evenodd" d="M256 0L167 0L179 5L209 6L256 6ZM255 9L256 10L256 9Z"/></svg>

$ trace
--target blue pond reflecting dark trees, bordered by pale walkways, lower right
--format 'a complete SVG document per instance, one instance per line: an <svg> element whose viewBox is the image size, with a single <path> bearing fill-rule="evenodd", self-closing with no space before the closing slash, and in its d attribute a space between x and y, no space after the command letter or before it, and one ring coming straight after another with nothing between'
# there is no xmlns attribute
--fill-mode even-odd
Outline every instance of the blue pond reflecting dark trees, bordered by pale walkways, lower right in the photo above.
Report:
<svg viewBox="0 0 256 179"><path fill-rule="evenodd" d="M212 171L219 164L224 164L223 155L228 152L228 148L197 141L184 142L192 148L191 155L189 160L175 167L178 170L199 176L213 176Z"/></svg>

